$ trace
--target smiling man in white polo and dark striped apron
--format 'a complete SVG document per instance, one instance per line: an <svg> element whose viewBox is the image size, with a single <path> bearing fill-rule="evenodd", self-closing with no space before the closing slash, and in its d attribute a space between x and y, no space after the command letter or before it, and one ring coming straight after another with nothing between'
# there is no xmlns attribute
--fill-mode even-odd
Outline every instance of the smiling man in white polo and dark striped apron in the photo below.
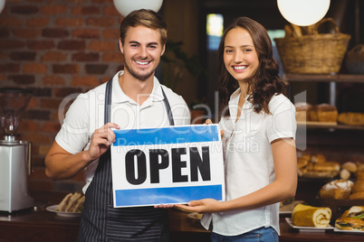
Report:
<svg viewBox="0 0 364 242"><path fill-rule="evenodd" d="M154 77L166 40L167 25L155 12L126 16L119 41L125 70L76 98L45 157L45 172L52 179L85 171L79 241L168 241L167 209L113 208L110 168L111 128L189 124L186 102Z"/></svg>

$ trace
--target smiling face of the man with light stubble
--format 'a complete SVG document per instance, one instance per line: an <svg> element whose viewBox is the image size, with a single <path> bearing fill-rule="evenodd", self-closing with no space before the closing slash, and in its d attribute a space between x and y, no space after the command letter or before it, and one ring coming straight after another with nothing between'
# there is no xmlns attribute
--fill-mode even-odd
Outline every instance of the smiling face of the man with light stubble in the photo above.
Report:
<svg viewBox="0 0 364 242"><path fill-rule="evenodd" d="M125 72L139 80L154 76L165 45L160 42L158 30L145 26L129 27L124 45L120 41L120 51L124 54Z"/></svg>

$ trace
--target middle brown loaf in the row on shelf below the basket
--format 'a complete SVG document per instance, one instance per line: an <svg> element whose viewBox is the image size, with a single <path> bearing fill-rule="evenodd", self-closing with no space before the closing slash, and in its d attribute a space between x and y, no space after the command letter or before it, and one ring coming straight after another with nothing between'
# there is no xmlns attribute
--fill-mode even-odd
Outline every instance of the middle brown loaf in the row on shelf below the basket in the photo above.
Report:
<svg viewBox="0 0 364 242"><path fill-rule="evenodd" d="M310 111L310 120L336 123L338 121L338 109L330 104L315 105Z"/></svg>

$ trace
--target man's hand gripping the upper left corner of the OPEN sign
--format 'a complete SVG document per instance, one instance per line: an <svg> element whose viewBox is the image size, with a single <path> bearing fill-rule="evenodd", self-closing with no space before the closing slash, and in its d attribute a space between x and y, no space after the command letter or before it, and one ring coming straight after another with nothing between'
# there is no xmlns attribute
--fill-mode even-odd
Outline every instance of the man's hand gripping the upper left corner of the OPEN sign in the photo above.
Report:
<svg viewBox="0 0 364 242"><path fill-rule="evenodd" d="M90 148L88 150L90 160L99 158L101 154L104 154L109 149L110 145L115 142L116 136L111 128L120 129L120 126L108 123L93 132Z"/></svg>

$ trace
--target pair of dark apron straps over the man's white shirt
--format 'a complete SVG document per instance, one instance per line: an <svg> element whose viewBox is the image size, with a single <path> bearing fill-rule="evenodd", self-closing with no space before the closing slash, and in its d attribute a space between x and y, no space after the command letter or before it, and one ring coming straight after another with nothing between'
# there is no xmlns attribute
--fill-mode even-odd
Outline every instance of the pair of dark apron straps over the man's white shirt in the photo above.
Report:
<svg viewBox="0 0 364 242"><path fill-rule="evenodd" d="M166 93L164 92L162 86L160 86L160 88L162 89L162 94L163 94L163 101L164 104L166 106L167 109L167 114L168 114L168 121L169 121L169 126L174 126L175 125L175 121L173 119L173 115L172 115L172 110L169 106L169 102L168 102L168 98L166 96ZM111 94L112 94L112 79L110 79L108 81L108 83L106 83L106 90L105 90L105 107L104 107L104 123L107 124L110 122L110 116L111 116Z"/></svg>

